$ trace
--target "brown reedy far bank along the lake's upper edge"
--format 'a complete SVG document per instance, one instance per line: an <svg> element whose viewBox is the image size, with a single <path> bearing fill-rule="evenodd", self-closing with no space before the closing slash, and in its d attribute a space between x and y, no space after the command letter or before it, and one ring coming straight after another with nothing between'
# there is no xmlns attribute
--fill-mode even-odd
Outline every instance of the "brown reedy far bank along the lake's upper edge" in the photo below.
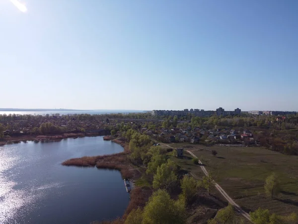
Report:
<svg viewBox="0 0 298 224"><path fill-rule="evenodd" d="M99 136L99 134L94 133L65 133L65 134L55 134L55 135L21 135L4 137L0 139L0 146L5 144L19 143L21 141L34 141L34 142L45 142L45 141L60 141L65 138L77 138L86 136Z"/></svg>

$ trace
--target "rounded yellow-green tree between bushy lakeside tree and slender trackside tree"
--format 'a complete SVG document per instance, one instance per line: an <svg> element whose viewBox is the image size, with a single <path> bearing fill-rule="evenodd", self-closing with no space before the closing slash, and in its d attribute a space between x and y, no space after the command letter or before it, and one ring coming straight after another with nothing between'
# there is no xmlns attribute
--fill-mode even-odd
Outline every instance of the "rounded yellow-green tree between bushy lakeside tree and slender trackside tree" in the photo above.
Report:
<svg viewBox="0 0 298 224"><path fill-rule="evenodd" d="M184 175L181 180L181 189L186 202L190 203L197 193L198 182L193 177Z"/></svg>

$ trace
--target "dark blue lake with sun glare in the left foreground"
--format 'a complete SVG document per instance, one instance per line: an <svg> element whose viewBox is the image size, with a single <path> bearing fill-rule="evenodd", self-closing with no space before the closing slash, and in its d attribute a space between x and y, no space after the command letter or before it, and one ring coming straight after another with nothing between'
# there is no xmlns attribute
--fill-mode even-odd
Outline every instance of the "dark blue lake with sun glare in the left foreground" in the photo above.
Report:
<svg viewBox="0 0 298 224"><path fill-rule="evenodd" d="M61 165L120 151L102 136L0 147L0 224L89 224L122 216L129 194L120 172Z"/></svg>

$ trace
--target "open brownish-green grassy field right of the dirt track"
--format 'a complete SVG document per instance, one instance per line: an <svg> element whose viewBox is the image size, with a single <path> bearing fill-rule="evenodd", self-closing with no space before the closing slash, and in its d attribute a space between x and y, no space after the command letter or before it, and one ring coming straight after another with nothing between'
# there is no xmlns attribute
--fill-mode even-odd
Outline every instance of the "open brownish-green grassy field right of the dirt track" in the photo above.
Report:
<svg viewBox="0 0 298 224"><path fill-rule="evenodd" d="M298 213L298 157L283 155L260 147L203 146L188 143L171 144L183 147L197 155L214 179L243 209L254 211L261 207L280 215ZM211 150L218 151L217 156ZM184 169L199 178L200 166L192 163L190 155L183 159L173 157ZM281 183L281 194L268 199L264 194L264 181L275 172Z"/></svg>

